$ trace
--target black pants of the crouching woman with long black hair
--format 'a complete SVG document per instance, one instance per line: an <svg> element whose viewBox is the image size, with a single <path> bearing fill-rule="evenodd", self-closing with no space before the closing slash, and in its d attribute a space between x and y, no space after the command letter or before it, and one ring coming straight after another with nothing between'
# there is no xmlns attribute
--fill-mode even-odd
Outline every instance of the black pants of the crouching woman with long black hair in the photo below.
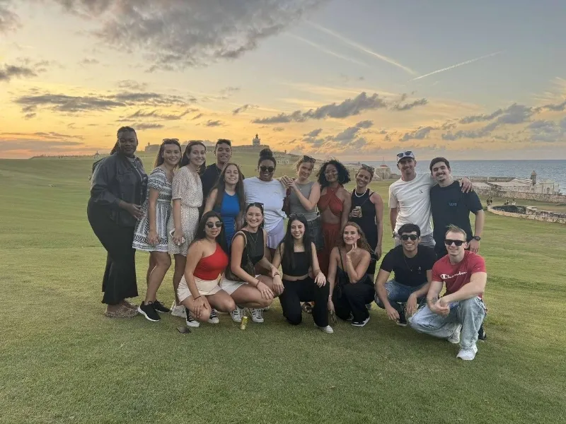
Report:
<svg viewBox="0 0 566 424"><path fill-rule="evenodd" d="M293 325L301 324L303 320L301 302L314 301L314 323L318 326L328 325L328 295L330 294L328 283L318 287L313 278L307 277L299 281L283 280L283 286L285 290L282 295L279 295L279 302L287 321Z"/></svg>

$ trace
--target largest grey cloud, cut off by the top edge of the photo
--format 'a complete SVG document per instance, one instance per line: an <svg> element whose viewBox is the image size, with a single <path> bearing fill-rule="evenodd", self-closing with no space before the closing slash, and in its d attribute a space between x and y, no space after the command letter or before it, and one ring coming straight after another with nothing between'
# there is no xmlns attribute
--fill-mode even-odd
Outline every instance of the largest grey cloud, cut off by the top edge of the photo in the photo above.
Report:
<svg viewBox="0 0 566 424"><path fill-rule="evenodd" d="M100 22L96 36L117 49L139 49L151 69L205 66L236 59L328 0L57 0Z"/></svg>

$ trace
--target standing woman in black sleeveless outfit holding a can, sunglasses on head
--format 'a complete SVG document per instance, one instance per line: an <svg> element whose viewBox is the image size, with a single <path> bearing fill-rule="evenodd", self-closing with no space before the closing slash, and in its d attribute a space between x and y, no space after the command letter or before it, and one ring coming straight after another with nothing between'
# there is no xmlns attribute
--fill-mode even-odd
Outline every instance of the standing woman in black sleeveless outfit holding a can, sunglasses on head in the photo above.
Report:
<svg viewBox="0 0 566 424"><path fill-rule="evenodd" d="M352 210L350 220L362 228L366 240L375 254L367 270L371 281L376 273L376 261L381 257L381 240L383 238L383 200L377 192L367 186L374 178L374 168L362 165L356 172L356 188L352 190Z"/></svg>

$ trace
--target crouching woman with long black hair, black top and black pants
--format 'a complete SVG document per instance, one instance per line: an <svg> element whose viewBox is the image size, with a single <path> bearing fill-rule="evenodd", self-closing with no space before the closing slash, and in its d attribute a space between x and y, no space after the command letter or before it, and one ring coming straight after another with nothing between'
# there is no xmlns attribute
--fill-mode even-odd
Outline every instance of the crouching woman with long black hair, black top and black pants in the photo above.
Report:
<svg viewBox="0 0 566 424"><path fill-rule="evenodd" d="M302 213L291 213L287 232L275 250L273 266L282 265L284 290L279 295L283 315L289 324L301 324L301 302L314 301L313 319L325 333L334 331L328 325L328 296L330 285L318 266L316 246L308 233Z"/></svg>

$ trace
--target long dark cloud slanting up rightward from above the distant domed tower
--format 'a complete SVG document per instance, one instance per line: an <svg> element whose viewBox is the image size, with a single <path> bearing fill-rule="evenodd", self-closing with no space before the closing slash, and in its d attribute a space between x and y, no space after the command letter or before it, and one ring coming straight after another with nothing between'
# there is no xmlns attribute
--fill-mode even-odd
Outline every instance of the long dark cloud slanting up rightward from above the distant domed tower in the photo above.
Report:
<svg viewBox="0 0 566 424"><path fill-rule="evenodd" d="M353 99L346 99L343 102L318 107L316 110L308 110L301 112L296 110L290 114L281 113L275 117L258 118L252 122L254 124L278 124L285 122L305 122L307 119L325 119L330 118L346 118L351 117L364 110L379 109L387 107L385 100L379 98L379 95L374 93L369 96L365 92L359 93Z"/></svg>

